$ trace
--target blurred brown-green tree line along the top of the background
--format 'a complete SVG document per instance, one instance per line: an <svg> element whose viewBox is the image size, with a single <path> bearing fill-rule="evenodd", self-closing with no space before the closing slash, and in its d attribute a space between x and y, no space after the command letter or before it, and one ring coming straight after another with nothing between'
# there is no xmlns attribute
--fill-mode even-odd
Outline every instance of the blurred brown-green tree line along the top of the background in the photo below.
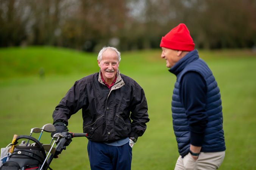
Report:
<svg viewBox="0 0 256 170"><path fill-rule="evenodd" d="M197 48L256 45L255 0L0 0L0 47L159 48L178 23Z"/></svg>

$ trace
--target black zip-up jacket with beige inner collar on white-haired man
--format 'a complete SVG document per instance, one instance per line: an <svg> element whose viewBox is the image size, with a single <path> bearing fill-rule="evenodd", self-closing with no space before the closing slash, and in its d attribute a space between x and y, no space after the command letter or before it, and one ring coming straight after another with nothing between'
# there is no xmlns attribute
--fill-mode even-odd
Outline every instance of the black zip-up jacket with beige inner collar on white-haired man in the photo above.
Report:
<svg viewBox="0 0 256 170"><path fill-rule="evenodd" d="M117 72L111 90L100 73L78 81L70 88L53 112L53 122L68 123L72 114L82 109L83 131L96 142L114 142L145 132L148 119L144 90L128 76ZM132 121L131 121L132 120Z"/></svg>

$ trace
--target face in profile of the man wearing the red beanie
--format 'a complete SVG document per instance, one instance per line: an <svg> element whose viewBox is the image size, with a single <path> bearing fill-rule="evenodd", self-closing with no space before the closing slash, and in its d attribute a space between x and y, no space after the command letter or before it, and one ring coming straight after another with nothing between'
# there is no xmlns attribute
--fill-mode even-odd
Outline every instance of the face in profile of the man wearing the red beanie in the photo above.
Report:
<svg viewBox="0 0 256 170"><path fill-rule="evenodd" d="M161 58L166 60L166 67L171 68L181 59L179 53L181 53L181 51L162 47Z"/></svg>

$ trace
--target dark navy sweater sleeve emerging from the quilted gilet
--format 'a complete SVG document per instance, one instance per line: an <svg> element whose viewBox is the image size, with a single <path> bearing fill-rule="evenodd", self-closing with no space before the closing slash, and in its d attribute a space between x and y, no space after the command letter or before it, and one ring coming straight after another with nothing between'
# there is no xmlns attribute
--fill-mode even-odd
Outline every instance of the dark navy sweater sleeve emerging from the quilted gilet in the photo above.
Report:
<svg viewBox="0 0 256 170"><path fill-rule="evenodd" d="M206 82L197 72L187 72L180 81L180 99L190 128L190 144L202 146L208 123L206 114Z"/></svg>

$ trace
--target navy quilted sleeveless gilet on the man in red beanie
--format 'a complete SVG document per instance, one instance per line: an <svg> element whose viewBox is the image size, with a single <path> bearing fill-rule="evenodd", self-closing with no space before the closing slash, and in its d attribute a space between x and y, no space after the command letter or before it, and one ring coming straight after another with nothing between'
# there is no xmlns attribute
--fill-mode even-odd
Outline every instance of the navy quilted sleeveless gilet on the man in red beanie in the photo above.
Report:
<svg viewBox="0 0 256 170"><path fill-rule="evenodd" d="M177 77L172 96L172 119L173 130L178 142L178 151L180 155L186 155L189 152L190 145L189 124L185 108L180 101L179 93L181 77L188 71L195 71L201 74L206 81L207 86L206 114L208 114L208 124L205 130L201 151L224 151L226 147L223 132L220 90L208 65L199 58L198 51L195 49L178 61L169 71Z"/></svg>

